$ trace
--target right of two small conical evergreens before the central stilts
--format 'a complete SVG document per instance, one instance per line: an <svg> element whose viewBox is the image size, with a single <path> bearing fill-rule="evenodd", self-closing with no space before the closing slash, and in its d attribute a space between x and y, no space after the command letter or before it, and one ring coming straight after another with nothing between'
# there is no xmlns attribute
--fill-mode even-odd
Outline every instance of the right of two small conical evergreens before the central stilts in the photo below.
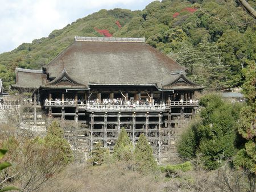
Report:
<svg viewBox="0 0 256 192"><path fill-rule="evenodd" d="M157 165L153 151L144 133L139 136L138 143L135 146L134 156L139 171L148 172L156 170Z"/></svg>

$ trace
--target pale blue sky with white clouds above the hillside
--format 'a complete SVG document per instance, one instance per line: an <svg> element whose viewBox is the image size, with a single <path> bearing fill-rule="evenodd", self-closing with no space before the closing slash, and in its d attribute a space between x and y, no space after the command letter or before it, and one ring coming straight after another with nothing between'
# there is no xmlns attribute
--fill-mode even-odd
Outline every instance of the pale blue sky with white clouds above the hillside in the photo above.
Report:
<svg viewBox="0 0 256 192"><path fill-rule="evenodd" d="M154 0L0 0L0 53L47 37L101 9L142 10Z"/></svg>

